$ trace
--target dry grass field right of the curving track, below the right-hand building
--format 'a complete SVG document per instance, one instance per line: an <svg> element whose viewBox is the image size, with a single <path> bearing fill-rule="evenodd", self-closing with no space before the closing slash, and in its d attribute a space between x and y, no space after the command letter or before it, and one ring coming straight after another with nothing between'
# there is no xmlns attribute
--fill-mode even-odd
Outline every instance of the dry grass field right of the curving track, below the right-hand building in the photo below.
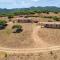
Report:
<svg viewBox="0 0 60 60"><path fill-rule="evenodd" d="M40 28L39 36L51 46L60 46L60 29Z"/></svg>

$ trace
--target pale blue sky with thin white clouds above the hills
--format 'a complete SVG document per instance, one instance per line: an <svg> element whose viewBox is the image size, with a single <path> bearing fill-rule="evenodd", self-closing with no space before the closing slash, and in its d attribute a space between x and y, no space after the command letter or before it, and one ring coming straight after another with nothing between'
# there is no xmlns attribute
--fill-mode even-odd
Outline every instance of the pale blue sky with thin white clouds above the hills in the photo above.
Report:
<svg viewBox="0 0 60 60"><path fill-rule="evenodd" d="M28 8L31 6L57 6L60 0L0 0L0 8Z"/></svg>

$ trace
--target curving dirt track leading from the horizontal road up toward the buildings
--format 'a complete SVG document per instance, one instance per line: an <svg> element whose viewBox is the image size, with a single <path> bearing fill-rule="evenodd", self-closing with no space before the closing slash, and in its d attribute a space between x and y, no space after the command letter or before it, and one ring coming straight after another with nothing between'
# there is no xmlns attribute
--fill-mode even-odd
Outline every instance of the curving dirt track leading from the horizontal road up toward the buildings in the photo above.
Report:
<svg viewBox="0 0 60 60"><path fill-rule="evenodd" d="M46 48L49 46L48 43L46 43L45 41L42 40L42 38L40 38L38 36L38 31L40 30L40 26L37 26L34 28L33 33L32 33L32 38L34 39L34 41L36 42L36 47L40 47L40 48Z"/></svg>

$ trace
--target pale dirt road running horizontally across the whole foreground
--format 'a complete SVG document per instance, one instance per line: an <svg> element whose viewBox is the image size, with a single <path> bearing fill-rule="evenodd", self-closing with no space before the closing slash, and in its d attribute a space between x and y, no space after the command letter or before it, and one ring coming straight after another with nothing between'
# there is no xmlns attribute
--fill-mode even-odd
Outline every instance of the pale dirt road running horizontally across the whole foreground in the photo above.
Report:
<svg viewBox="0 0 60 60"><path fill-rule="evenodd" d="M9 54L14 53L39 53L39 52L48 52L48 51L54 51L54 50L60 50L60 46L53 46L48 48L30 48L30 49L12 49L12 48L3 48L0 47L0 51L6 52Z"/></svg>

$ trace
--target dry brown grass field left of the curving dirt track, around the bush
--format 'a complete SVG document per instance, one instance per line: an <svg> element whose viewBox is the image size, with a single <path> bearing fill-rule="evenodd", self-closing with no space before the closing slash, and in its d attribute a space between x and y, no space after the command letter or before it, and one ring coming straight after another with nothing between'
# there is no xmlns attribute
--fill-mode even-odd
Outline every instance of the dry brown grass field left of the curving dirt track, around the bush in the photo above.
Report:
<svg viewBox="0 0 60 60"><path fill-rule="evenodd" d="M10 48L34 47L34 40L31 38L31 33L35 24L21 23L20 25L23 27L21 33L12 33L12 23L5 30L0 31L0 46Z"/></svg>

